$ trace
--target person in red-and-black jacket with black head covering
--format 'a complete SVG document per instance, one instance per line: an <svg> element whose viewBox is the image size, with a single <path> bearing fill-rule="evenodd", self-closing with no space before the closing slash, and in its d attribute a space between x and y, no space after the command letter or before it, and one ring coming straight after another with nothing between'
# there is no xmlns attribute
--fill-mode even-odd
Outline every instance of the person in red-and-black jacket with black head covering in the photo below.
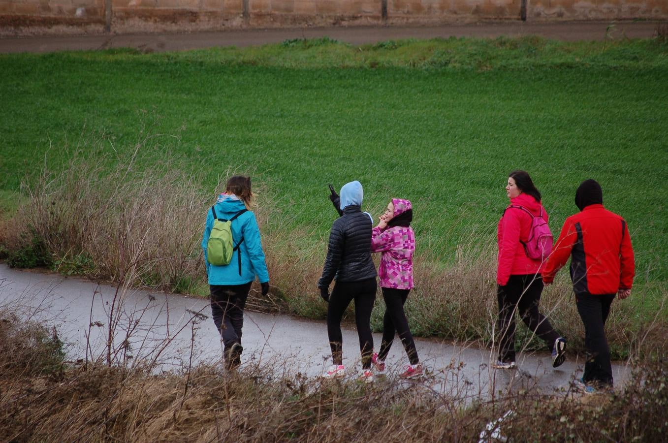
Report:
<svg viewBox="0 0 668 443"><path fill-rule="evenodd" d="M629 228L624 218L603 207L603 190L596 180L580 184L575 204L580 212L566 218L543 270L543 281L552 283L570 256L573 292L591 354L578 386L592 393L613 386L605 321L615 295L619 299L631 295L635 263Z"/></svg>

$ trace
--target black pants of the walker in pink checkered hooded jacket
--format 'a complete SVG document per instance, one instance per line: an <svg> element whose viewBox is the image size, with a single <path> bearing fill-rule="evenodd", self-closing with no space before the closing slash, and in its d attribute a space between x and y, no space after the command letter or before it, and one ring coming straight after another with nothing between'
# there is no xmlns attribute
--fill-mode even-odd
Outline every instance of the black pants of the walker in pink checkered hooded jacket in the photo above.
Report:
<svg viewBox="0 0 668 443"><path fill-rule="evenodd" d="M410 289L391 289L381 288L383 290L383 299L385 300L385 315L383 316L383 341L380 343L378 358L385 360L392 345L394 334L399 333L399 339L403 343L403 349L408 355L411 365L420 363L418 350L415 349L415 341L408 327L408 320L403 312L403 305L406 303Z"/></svg>

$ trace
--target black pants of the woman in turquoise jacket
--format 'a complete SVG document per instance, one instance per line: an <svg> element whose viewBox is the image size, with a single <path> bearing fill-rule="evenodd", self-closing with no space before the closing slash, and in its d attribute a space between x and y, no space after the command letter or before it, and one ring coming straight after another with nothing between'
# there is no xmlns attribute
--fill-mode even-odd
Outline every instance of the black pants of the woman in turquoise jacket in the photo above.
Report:
<svg viewBox="0 0 668 443"><path fill-rule="evenodd" d="M244 285L209 285L211 291L211 315L222 336L225 351L234 343L241 344L241 328L244 325L244 307L251 283Z"/></svg>

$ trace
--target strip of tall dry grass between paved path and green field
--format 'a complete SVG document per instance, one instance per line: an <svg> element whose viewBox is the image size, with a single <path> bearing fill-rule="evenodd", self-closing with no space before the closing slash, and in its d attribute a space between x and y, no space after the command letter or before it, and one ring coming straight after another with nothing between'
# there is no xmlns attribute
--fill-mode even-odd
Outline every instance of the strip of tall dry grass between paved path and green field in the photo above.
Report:
<svg viewBox="0 0 668 443"><path fill-rule="evenodd" d="M27 203L11 220L0 222L0 244L9 251L30 251L39 245L45 250L40 254L48 255L45 261L60 272L205 295L208 288L200 248L204 217L227 176L236 171L222 171L216 182L202 185L206 182L202 166L171 159L159 142L159 138L147 137L134 146L132 155L119 157L104 147L104 138L85 140L83 146L74 148L73 160L57 168L58 172L45 161L25 182ZM289 218L277 214L271 192L262 186L259 191L254 210L263 233L271 291L262 297L255 287L248 308L324 318L327 305L319 298L315 283L327 239L319 237L313 227L295 229ZM481 233L460 242L448 263L439 263L426 253L416 255L416 288L406 305L413 333L493 343L498 311L495 255L496 245ZM546 288L541 310L568 338L570 349L584 349L584 331L565 274L562 271L560 279ZM607 331L618 357L639 347L640 339L652 341L648 337L656 337L657 328L668 329L668 290L659 292L664 303L649 317L639 317L629 301L613 303ZM376 330L382 328L381 299L379 291L372 316ZM544 343L519 318L517 322L517 348L542 349Z"/></svg>

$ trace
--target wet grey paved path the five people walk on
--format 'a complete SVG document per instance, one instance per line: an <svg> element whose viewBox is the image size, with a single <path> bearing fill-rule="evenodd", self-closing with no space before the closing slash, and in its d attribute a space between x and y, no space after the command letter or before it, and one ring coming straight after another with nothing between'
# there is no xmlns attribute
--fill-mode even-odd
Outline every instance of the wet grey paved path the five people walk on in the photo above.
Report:
<svg viewBox="0 0 668 443"><path fill-rule="evenodd" d="M54 325L67 343L69 358L106 356L109 312L116 323L112 357L133 364L155 360L164 370L192 364L219 364L220 338L205 299L148 291L118 291L91 281L10 269L0 263L0 309ZM114 301L114 296L116 301ZM120 309L119 309L120 306ZM327 325L289 315L246 312L244 315L242 367L269 365L275 375L297 372L317 377L330 364ZM90 337L90 339L87 339ZM375 345L380 335L374 334ZM569 389L579 376L582 361L570 359L554 370L547 353L520 353L518 371L492 370L489 349L416 339L418 353L432 377L426 380L430 392L456 394L460 398L490 398L520 387L542 392ZM359 372L359 344L353 329L344 328L343 357L349 375ZM407 364L399 340L387 359L388 377L395 378ZM629 375L629 368L613 366L617 386Z"/></svg>

